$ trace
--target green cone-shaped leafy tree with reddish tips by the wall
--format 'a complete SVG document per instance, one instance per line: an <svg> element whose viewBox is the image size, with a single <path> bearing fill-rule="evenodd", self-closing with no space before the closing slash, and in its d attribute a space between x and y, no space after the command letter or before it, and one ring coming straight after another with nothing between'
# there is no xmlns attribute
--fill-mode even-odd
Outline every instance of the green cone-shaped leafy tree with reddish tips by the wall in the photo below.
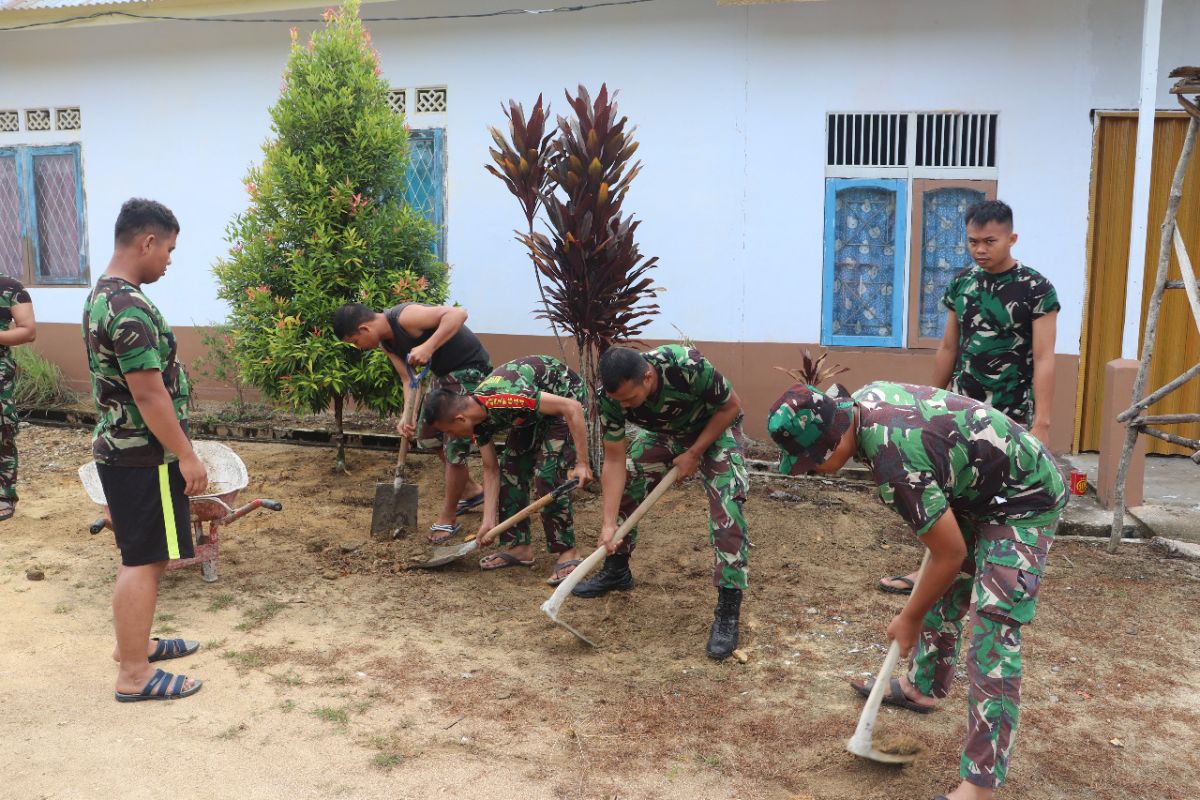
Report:
<svg viewBox="0 0 1200 800"><path fill-rule="evenodd" d="M241 379L294 410L332 404L342 470L346 398L380 413L403 399L380 350L360 355L334 336L335 309L440 303L448 281L433 227L403 203L408 133L358 8L328 10L304 43L292 29L274 137L245 179L250 207L230 222L229 254L214 270Z"/></svg>

